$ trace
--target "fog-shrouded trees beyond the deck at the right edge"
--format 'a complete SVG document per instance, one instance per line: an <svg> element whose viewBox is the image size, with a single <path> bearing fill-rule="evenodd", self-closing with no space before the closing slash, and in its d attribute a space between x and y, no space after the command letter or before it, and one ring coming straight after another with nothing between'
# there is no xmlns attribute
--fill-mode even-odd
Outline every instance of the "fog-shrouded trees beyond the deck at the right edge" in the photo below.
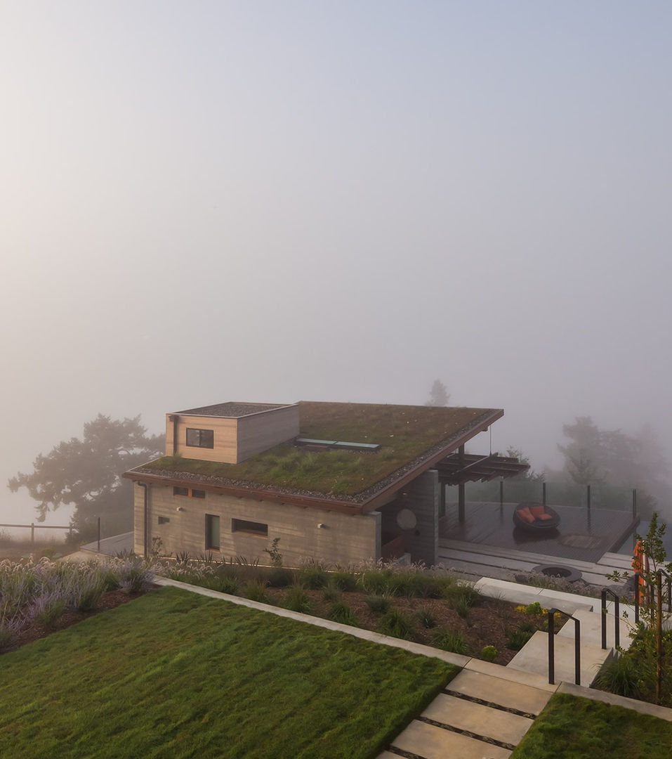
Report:
<svg viewBox="0 0 672 759"><path fill-rule="evenodd" d="M672 488L667 480L670 466L650 427L639 434L600 430L591 417L576 417L563 426L567 445L558 445L564 455L564 474L581 485L600 483L635 488L639 510L672 513Z"/></svg>

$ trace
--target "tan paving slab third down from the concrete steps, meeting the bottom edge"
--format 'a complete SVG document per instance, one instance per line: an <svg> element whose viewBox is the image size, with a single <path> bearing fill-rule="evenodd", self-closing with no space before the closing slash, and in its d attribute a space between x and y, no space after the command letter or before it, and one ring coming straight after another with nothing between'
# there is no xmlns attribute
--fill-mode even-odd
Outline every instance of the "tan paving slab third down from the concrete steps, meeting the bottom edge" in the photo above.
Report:
<svg viewBox="0 0 672 759"><path fill-rule="evenodd" d="M394 748L400 748L401 751L410 751L425 759L447 759L447 757L507 759L511 755L506 748L477 741L459 732L444 730L435 725L418 722L418 720L413 720L407 729L397 736L392 745Z"/></svg>

